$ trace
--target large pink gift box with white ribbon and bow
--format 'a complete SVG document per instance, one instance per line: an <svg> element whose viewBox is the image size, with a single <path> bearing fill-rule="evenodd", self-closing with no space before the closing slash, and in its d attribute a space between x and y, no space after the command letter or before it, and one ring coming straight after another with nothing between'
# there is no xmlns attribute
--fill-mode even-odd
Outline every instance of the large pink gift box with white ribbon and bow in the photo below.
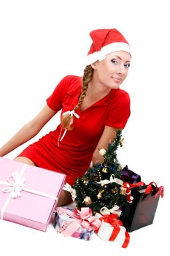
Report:
<svg viewBox="0 0 170 256"><path fill-rule="evenodd" d="M66 176L0 157L0 217L46 231Z"/></svg>

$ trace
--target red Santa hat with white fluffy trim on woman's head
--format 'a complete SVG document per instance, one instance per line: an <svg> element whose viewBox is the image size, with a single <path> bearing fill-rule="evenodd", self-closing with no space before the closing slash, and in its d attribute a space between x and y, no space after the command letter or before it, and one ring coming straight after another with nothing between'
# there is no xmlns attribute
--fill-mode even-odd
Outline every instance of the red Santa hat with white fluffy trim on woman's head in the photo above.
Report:
<svg viewBox="0 0 170 256"><path fill-rule="evenodd" d="M117 29L97 29L90 32L93 40L87 57L87 65L102 61L108 53L125 50L131 53L131 48L123 34Z"/></svg>

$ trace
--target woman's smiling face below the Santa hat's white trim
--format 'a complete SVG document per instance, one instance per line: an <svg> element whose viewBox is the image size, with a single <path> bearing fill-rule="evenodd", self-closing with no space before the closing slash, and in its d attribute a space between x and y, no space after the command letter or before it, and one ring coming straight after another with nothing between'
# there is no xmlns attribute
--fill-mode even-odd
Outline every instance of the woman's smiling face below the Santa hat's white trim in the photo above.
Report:
<svg viewBox="0 0 170 256"><path fill-rule="evenodd" d="M107 54L103 61L92 64L96 81L109 89L117 89L128 75L131 55L125 51Z"/></svg>

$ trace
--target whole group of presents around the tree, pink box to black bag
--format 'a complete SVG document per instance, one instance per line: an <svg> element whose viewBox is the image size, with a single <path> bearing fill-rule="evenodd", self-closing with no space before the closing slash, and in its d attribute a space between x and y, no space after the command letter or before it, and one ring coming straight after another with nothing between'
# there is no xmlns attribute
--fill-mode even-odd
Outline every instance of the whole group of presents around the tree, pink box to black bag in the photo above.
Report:
<svg viewBox="0 0 170 256"><path fill-rule="evenodd" d="M155 182L144 184L126 166L121 179L126 184L126 195L130 196L123 206L103 207L99 212L93 212L90 204L77 208L76 202L56 207L65 178L62 173L0 157L1 219L42 231L53 222L63 236L88 241L96 233L98 238L118 241L125 248L129 233L152 224L158 200L163 197L163 187L157 187ZM75 189L71 187L70 192L73 195Z"/></svg>

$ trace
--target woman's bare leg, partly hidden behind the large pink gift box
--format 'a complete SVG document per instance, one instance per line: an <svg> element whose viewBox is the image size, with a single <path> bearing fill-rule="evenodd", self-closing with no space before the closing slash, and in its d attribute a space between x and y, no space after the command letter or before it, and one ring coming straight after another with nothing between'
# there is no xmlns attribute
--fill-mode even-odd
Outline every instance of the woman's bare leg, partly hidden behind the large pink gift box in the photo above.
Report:
<svg viewBox="0 0 170 256"><path fill-rule="evenodd" d="M18 162L23 162L27 165L33 165L33 166L36 166L34 164L34 162L32 162L30 159L28 159L27 157L16 157L15 158L15 161L18 161ZM61 190L61 195L59 196L58 198L58 204L57 206L63 206L63 205L66 205L67 203L69 203L69 200L70 200L70 193L65 191L65 190Z"/></svg>

